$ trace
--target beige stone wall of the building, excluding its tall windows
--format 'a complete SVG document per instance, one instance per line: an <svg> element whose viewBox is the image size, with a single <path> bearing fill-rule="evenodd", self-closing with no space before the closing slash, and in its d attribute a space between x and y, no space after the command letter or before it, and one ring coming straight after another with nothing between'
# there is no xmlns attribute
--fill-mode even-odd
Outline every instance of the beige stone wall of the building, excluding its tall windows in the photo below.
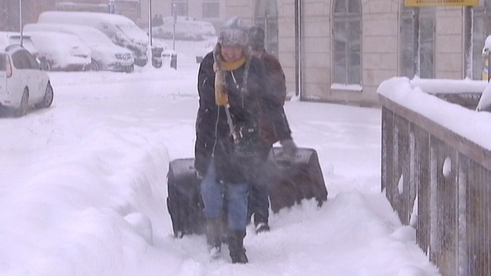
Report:
<svg viewBox="0 0 491 276"><path fill-rule="evenodd" d="M253 20L256 0L227 0L226 18ZM277 0L279 60L287 90L295 94L295 0ZM332 88L332 0L302 0L302 98L378 105L377 88L400 74L399 13L403 0L361 0L362 90ZM436 78L464 77L462 7L438 7L435 28Z"/></svg>

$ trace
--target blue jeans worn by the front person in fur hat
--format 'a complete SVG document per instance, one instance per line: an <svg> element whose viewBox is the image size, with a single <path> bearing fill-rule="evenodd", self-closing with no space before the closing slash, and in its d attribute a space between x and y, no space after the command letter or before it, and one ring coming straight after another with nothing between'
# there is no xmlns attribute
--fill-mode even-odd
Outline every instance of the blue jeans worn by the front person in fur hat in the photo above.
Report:
<svg viewBox="0 0 491 276"><path fill-rule="evenodd" d="M223 214L225 196L228 228L230 230L245 230L247 195L247 184L222 184L218 182L215 161L211 159L206 175L201 182L204 216L209 219L220 218Z"/></svg>

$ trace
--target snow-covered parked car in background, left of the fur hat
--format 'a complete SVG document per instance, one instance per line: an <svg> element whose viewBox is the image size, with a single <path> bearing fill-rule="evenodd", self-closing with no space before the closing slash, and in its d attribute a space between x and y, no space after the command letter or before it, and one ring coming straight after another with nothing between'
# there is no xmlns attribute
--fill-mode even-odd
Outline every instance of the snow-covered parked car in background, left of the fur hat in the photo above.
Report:
<svg viewBox="0 0 491 276"><path fill-rule="evenodd" d="M164 17L162 21L163 24L152 27L152 37L172 39L174 33L174 18L172 16L167 16ZM210 22L195 20L194 18L187 16L178 16L176 20L176 40L215 40L216 42L216 30Z"/></svg>

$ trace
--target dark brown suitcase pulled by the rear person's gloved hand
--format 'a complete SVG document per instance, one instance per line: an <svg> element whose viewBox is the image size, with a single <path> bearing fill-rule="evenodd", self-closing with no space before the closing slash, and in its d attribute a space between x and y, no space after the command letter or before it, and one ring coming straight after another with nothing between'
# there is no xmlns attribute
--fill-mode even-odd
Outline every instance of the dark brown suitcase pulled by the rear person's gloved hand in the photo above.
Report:
<svg viewBox="0 0 491 276"><path fill-rule="evenodd" d="M304 198L315 198L319 206L327 200L327 188L314 149L298 148L295 157L288 157L282 154L281 147L274 147L268 159L271 166L269 201L274 213Z"/></svg>

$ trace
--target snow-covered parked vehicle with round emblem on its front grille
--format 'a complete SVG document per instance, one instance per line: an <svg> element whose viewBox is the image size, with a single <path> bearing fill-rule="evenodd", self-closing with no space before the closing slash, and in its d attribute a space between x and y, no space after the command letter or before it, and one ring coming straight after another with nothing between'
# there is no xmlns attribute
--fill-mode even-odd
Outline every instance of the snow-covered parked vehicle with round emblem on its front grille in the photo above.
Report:
<svg viewBox="0 0 491 276"><path fill-rule="evenodd" d="M90 68L94 71L110 70L129 73L135 68L132 52L115 45L96 28L71 24L35 23L26 24L24 30L29 33L50 31L77 36L91 49Z"/></svg>

